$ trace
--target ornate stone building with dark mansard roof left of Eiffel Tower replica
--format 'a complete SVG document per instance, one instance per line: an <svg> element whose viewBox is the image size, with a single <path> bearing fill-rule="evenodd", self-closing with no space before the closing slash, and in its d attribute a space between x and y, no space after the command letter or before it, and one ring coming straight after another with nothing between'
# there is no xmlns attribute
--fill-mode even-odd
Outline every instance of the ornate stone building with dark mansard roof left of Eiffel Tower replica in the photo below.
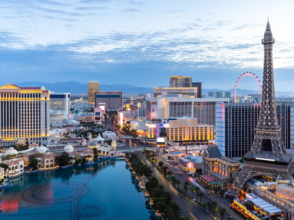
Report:
<svg viewBox="0 0 294 220"><path fill-rule="evenodd" d="M239 171L240 164L222 156L217 145L208 145L204 150L202 161L203 175L214 177L218 182L220 189L226 190L234 182L234 175Z"/></svg>

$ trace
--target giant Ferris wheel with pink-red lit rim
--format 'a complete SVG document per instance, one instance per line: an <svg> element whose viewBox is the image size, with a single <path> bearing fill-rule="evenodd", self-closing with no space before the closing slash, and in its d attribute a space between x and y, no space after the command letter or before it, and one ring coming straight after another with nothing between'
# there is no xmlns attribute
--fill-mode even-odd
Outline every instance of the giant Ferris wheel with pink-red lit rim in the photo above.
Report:
<svg viewBox="0 0 294 220"><path fill-rule="evenodd" d="M260 80L252 72L244 72L236 81L234 90L234 102L237 102L237 97L248 96L251 94L262 94Z"/></svg>

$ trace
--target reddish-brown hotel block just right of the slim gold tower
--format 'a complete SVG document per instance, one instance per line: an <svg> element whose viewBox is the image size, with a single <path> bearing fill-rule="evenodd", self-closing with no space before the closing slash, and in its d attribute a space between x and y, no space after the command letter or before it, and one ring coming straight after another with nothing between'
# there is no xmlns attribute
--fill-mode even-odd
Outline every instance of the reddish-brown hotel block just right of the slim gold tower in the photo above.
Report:
<svg viewBox="0 0 294 220"><path fill-rule="evenodd" d="M95 108L99 108L99 103L105 103L105 109L121 109L123 92L95 92Z"/></svg>

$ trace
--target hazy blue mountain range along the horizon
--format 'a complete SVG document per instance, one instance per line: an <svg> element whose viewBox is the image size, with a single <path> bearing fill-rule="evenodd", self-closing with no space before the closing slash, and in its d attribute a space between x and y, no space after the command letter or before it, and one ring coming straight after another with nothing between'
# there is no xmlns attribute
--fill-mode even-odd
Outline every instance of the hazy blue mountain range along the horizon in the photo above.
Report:
<svg viewBox="0 0 294 220"><path fill-rule="evenodd" d="M80 82L56 82L56 83L45 83L45 82L19 82L15 83L20 87L40 87L44 86L46 89L51 90L51 92L69 92L71 94L87 94L88 84ZM163 87L163 86L161 86ZM165 86L167 87L167 86ZM206 95L209 91L217 92L222 89L202 89L202 94ZM233 94L235 89L229 89ZM111 92L111 91L123 91L123 94L153 94L153 88L150 87L137 87L128 84L101 84L99 85L99 91ZM224 92L227 90L223 90ZM258 91L256 91L258 93ZM238 89L238 94L248 94L246 89ZM294 92L278 92L275 91L276 95L291 95Z"/></svg>

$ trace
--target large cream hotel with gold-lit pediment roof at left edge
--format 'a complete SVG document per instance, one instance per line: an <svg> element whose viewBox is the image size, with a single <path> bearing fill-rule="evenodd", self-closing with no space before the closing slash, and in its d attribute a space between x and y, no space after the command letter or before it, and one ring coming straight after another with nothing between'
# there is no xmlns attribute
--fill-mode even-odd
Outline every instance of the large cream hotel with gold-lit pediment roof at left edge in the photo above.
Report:
<svg viewBox="0 0 294 220"><path fill-rule="evenodd" d="M50 90L42 87L0 87L0 145L47 144Z"/></svg>

